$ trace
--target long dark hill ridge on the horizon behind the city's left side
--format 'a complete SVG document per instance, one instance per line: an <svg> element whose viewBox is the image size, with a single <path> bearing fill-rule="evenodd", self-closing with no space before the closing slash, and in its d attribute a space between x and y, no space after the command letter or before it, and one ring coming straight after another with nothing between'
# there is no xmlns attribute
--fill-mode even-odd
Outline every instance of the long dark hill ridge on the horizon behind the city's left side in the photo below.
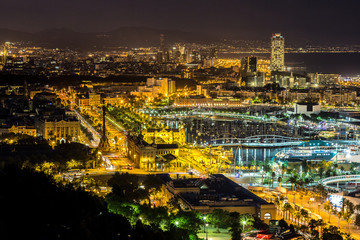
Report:
<svg viewBox="0 0 360 240"><path fill-rule="evenodd" d="M77 50L104 49L107 47L159 46L160 34L168 44L174 42L211 43L219 37L204 33L165 30L146 27L122 27L109 32L82 33L69 29L48 29L27 33L0 29L0 42L24 41L49 48L71 48Z"/></svg>

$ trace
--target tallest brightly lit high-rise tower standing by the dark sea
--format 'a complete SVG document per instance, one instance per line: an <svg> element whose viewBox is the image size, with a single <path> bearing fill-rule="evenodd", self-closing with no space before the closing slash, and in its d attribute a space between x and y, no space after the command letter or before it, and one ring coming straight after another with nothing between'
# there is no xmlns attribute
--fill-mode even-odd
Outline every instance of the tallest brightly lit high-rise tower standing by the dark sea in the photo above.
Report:
<svg viewBox="0 0 360 240"><path fill-rule="evenodd" d="M271 37L271 71L284 71L284 46L285 38L281 33L275 33Z"/></svg>

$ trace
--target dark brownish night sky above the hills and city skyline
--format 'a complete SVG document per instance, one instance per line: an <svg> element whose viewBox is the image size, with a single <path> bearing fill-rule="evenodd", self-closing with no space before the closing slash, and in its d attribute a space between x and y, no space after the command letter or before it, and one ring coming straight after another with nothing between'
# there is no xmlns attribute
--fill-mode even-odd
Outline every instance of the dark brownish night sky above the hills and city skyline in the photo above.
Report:
<svg viewBox="0 0 360 240"><path fill-rule="evenodd" d="M0 28L82 32L125 26L206 32L241 39L357 43L358 0L2 0Z"/></svg>

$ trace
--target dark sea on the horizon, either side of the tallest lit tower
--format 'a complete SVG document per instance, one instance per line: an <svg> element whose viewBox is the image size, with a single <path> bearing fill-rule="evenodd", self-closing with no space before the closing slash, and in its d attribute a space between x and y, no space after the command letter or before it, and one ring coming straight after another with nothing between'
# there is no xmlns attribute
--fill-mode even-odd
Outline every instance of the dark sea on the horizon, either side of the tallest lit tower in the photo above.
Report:
<svg viewBox="0 0 360 240"><path fill-rule="evenodd" d="M219 58L241 58L250 54L218 54ZM270 54L254 54L270 59ZM307 72L360 75L360 53L286 53L285 65L303 64Z"/></svg>

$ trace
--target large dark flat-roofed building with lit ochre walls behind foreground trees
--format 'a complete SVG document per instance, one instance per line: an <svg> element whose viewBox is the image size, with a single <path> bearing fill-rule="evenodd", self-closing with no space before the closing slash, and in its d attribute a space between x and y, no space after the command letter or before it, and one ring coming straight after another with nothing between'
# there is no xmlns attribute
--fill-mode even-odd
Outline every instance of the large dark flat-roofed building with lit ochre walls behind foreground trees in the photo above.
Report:
<svg viewBox="0 0 360 240"><path fill-rule="evenodd" d="M255 215L265 223L276 219L276 208L239 184L221 174L209 178L172 179L159 175L164 181L169 197L178 197L185 209L202 214L222 209L240 214Z"/></svg>

